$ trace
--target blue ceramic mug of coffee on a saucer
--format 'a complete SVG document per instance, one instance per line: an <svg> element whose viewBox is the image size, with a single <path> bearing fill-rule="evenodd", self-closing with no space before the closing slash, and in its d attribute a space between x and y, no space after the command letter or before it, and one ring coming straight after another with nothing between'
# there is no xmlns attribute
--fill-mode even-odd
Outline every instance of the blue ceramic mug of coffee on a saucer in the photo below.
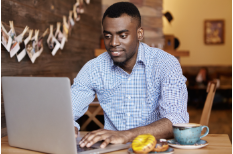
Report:
<svg viewBox="0 0 233 154"><path fill-rule="evenodd" d="M209 134L209 127L195 123L175 124L172 127L175 140L181 145L193 145ZM201 136L204 128L206 132Z"/></svg>

